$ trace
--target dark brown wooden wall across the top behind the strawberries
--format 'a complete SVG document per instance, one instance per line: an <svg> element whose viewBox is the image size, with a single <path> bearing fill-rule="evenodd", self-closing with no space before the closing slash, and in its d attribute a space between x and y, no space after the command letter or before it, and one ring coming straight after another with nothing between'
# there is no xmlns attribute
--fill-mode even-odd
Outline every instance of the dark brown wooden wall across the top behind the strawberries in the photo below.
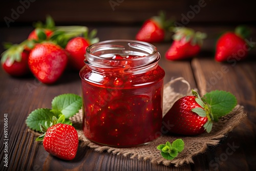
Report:
<svg viewBox="0 0 256 171"><path fill-rule="evenodd" d="M191 23L227 24L252 23L254 2L233 1L6 1L2 3L1 18L13 19L9 24L32 23L44 20L47 14L52 15L58 23L139 23L148 17L164 10L168 16L174 16L183 25ZM112 2L112 3L111 3ZM113 5L111 5L113 4ZM218 12L217 12L218 11ZM236 13L234 11L239 11ZM12 13L15 13L12 14ZM5 20L1 20L7 26Z"/></svg>

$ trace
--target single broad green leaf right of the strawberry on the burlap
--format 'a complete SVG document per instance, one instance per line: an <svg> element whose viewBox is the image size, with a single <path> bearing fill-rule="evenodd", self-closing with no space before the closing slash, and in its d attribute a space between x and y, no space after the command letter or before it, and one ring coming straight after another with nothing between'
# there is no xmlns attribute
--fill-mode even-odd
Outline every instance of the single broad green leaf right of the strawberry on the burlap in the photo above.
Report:
<svg viewBox="0 0 256 171"><path fill-rule="evenodd" d="M211 91L204 95L203 100L210 105L211 113L217 117L228 114L237 105L236 97L226 91Z"/></svg>

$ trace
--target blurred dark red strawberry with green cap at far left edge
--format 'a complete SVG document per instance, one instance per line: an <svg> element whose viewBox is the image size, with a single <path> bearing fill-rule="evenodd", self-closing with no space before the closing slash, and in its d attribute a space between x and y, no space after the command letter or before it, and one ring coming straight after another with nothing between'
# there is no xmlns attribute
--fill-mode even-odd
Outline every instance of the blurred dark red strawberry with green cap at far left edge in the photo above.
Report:
<svg viewBox="0 0 256 171"><path fill-rule="evenodd" d="M24 76L29 73L28 52L24 45L12 45L2 54L3 69L11 76Z"/></svg>

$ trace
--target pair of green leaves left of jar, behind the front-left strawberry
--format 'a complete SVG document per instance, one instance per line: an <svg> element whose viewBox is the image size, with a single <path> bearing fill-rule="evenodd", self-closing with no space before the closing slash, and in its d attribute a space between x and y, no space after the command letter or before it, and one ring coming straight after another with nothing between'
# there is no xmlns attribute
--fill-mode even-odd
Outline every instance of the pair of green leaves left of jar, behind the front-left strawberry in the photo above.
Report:
<svg viewBox="0 0 256 171"><path fill-rule="evenodd" d="M70 117L74 116L82 106L82 98L76 94L62 94L52 100L52 109L36 109L32 111L26 124L31 130L42 132L56 123L72 124ZM55 119L56 118L56 119Z"/></svg>

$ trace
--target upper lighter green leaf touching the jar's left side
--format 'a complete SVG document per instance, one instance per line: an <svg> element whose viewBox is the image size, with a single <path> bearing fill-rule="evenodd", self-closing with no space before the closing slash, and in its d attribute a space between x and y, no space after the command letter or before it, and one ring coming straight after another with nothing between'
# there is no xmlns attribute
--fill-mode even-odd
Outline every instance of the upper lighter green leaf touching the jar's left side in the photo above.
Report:
<svg viewBox="0 0 256 171"><path fill-rule="evenodd" d="M52 100L52 109L60 111L65 118L78 113L82 107L82 98L76 94L62 94Z"/></svg>

